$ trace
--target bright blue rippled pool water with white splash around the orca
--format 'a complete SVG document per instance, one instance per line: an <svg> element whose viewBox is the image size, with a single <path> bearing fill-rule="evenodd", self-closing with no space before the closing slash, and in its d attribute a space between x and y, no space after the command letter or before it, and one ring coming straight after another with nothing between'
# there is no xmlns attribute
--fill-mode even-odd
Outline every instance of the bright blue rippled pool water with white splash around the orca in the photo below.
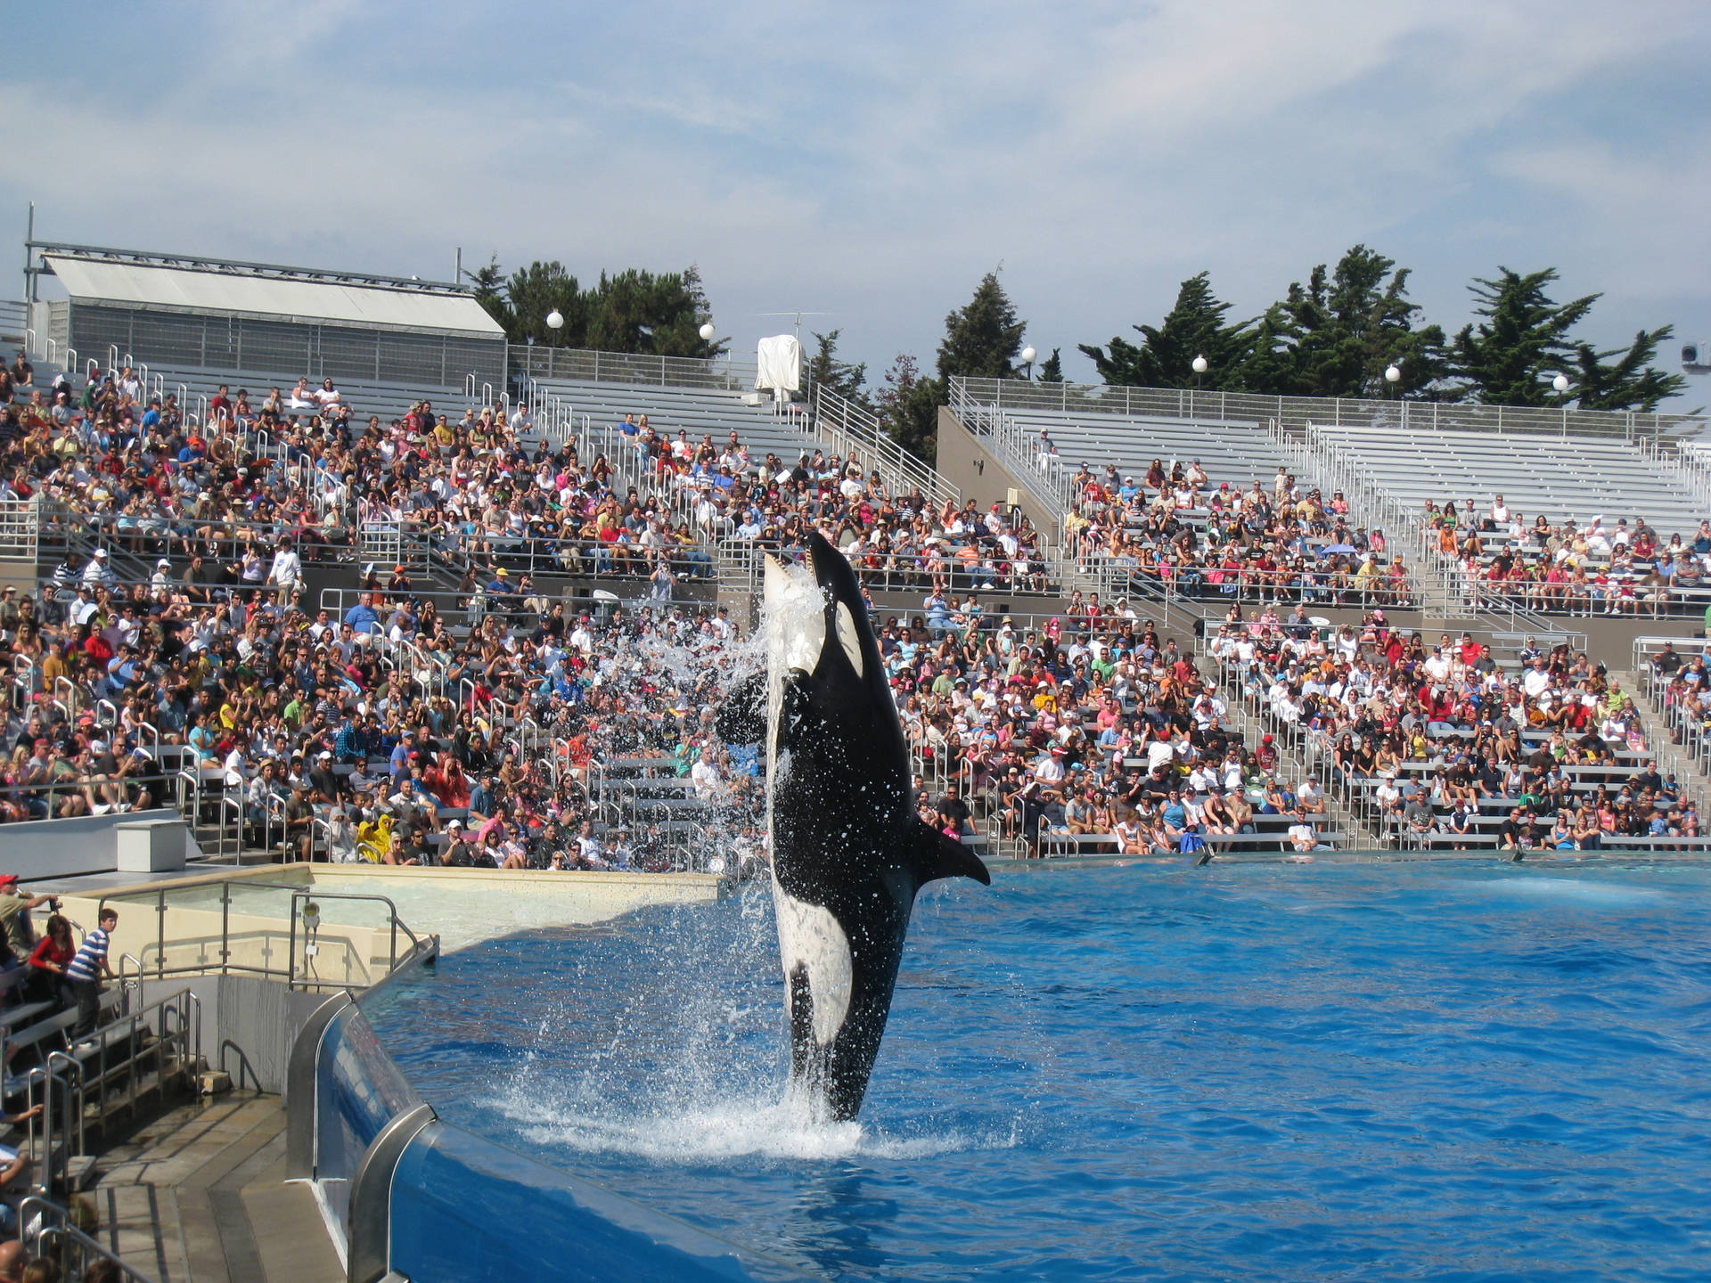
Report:
<svg viewBox="0 0 1711 1283"><path fill-rule="evenodd" d="M1711 871L929 888L859 1124L770 898L464 949L371 1018L448 1120L833 1278L1711 1278Z"/></svg>

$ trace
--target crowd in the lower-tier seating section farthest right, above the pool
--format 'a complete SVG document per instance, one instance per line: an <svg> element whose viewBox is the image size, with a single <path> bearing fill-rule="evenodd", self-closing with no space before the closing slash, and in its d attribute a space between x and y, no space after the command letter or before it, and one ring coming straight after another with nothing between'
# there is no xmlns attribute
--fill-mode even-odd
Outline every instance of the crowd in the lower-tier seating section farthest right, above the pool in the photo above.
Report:
<svg viewBox="0 0 1711 1283"><path fill-rule="evenodd" d="M1299 612L1225 624L1211 652L1333 789L1405 843L1492 835L1509 850L1596 850L1701 837L1629 693L1567 645L1528 638L1506 671L1466 633L1427 645L1376 611L1360 628L1316 628ZM1495 826L1482 823L1494 814Z"/></svg>

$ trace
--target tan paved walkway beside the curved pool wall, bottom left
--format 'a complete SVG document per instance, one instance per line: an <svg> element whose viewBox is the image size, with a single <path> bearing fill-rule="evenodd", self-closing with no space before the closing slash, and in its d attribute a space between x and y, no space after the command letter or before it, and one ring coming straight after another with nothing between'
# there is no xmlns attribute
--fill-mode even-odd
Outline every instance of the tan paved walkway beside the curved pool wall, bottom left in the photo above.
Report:
<svg viewBox="0 0 1711 1283"><path fill-rule="evenodd" d="M101 1156L98 1239L156 1283L342 1283L315 1196L286 1180L279 1097L190 1102Z"/></svg>

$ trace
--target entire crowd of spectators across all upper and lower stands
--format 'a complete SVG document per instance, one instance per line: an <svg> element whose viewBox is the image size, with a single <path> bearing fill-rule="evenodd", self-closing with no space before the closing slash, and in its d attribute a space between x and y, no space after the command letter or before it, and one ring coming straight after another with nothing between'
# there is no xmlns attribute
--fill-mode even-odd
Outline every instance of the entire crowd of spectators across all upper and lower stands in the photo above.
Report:
<svg viewBox="0 0 1711 1283"><path fill-rule="evenodd" d="M597 823L587 765L669 758L698 801L751 826L753 754L713 742L705 720L736 628L667 602L679 571L710 566L707 535L787 553L820 529L869 587L926 588L917 616L879 624L924 818L965 837L987 818L1028 842L1104 833L1128 854L1252 833L1256 816L1299 821L1288 840L1304 850L1316 842L1323 785L1280 777L1271 739L1244 742L1217 683L1126 599L1075 594L1063 616L1021 626L986 616L975 588L1049 587L1037 532L999 505L934 506L838 457L755 460L736 433L691 443L647 416L626 416L613 457L583 465L573 445L536 441L524 405L452 423L423 402L364 424L325 380L253 407L222 387L197 424L128 370L79 395L62 381L41 397L19 364L7 383L21 399L0 423L0 498L60 500L154 571L121 578L103 547L67 558L39 594L0 597L0 660L14 674L5 819L176 799L181 758L204 792L238 799L253 831L298 854L660 866L667 833ZM618 476L643 481L619 494ZM1311 741L1335 785L1372 780L1362 801L1398 831L1473 823L1458 802L1477 819L1482 801L1519 799L1533 807L1528 840L1547 814L1581 843L1596 840L1591 819L1603 835L1697 835L1692 806L1648 768L1576 790L1566 766L1644 748L1625 693L1584 655L1523 655L1525 671L1504 674L1468 640L1427 648L1389 628L1382 606L1408 600L1406 575L1340 493L1324 500L1283 469L1270 488L1213 486L1198 460L1155 460L1138 476L1083 467L1075 496L1076 556L1232 599L1218 659L1285 737ZM1588 599L1643 602L1637 583L1624 597L1624 575L1670 551L1644 523L1526 527L1501 496L1478 520L1466 511L1429 506L1446 554L1501 566L1504 580L1548 563L1542 600L1559 592L1548 573L1578 585L1605 558L1605 595L1593 583ZM303 600L303 563L352 556L358 523L424 529L460 561L455 626L402 566L370 568L342 618ZM1487 542L1499 546L1489 556ZM1711 559L1711 523L1672 547L1668 565L1687 565L1668 571L1672 590L1690 587ZM527 568L513 576L518 549L530 568L544 554L556 571L647 575L659 606L590 618ZM1249 597L1294 599L1294 614L1244 616ZM1328 635L1305 618L1319 602L1379 609ZM558 756L522 751L520 725ZM1403 761L1430 766L1430 818L1417 773L1386 770Z"/></svg>

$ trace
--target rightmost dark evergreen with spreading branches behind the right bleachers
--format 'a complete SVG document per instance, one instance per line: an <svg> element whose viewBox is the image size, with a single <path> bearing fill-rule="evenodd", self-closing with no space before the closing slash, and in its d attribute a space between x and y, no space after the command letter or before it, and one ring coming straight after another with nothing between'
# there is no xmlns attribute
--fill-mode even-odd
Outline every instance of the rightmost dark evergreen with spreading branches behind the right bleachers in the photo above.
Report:
<svg viewBox="0 0 1711 1283"><path fill-rule="evenodd" d="M1641 330L1624 352L1598 352L1591 344L1569 337L1593 310L1600 294L1583 294L1555 303L1547 286L1557 270L1547 267L1526 275L1507 267L1497 277L1477 277L1470 289L1478 299L1478 323L1456 334L1454 373L1465 380L1461 392L1494 405L1560 405L1576 400L1583 409L1656 409L1685 385L1680 375L1651 368L1658 344L1672 328ZM1613 364L1608 358L1620 358ZM1548 375L1569 378L1569 392L1557 393Z"/></svg>

